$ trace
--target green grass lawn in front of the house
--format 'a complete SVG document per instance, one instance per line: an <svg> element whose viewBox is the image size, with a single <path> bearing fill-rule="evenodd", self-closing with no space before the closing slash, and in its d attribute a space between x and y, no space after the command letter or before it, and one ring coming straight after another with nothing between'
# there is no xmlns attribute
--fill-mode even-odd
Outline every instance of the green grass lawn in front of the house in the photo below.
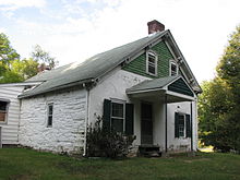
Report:
<svg viewBox="0 0 240 180"><path fill-rule="evenodd" d="M195 157L75 159L24 148L0 149L0 179L240 180L240 155L200 153Z"/></svg>

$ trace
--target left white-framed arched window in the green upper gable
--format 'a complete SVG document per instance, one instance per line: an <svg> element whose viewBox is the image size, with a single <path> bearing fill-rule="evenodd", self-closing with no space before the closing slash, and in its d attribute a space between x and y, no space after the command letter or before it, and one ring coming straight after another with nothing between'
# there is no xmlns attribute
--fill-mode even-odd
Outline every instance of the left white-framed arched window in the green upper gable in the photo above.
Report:
<svg viewBox="0 0 240 180"><path fill-rule="evenodd" d="M146 53L146 73L157 75L157 55L152 51Z"/></svg>

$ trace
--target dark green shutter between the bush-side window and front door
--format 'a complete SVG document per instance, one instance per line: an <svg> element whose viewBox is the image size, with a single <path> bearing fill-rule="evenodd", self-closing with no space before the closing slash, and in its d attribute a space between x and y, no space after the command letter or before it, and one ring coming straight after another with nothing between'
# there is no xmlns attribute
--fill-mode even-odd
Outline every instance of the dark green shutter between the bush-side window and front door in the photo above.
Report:
<svg viewBox="0 0 240 180"><path fill-rule="evenodd" d="M134 106L133 104L125 104L125 134L133 135L133 119Z"/></svg>

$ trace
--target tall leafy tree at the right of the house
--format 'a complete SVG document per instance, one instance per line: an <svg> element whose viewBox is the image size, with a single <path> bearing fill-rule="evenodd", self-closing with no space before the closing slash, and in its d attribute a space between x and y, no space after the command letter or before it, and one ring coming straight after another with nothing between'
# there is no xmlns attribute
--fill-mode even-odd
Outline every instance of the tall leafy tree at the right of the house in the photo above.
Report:
<svg viewBox="0 0 240 180"><path fill-rule="evenodd" d="M240 151L240 26L230 36L216 70L216 77L202 85L200 137L215 148Z"/></svg>

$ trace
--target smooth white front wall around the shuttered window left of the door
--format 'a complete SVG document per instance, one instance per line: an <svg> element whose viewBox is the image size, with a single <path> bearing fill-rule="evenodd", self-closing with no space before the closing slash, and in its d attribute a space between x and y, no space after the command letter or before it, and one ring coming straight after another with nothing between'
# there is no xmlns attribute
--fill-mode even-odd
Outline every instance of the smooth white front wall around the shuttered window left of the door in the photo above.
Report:
<svg viewBox="0 0 240 180"><path fill-rule="evenodd" d="M125 89L139 84L148 77L137 75L124 70L117 69L101 80L96 87L89 92L89 122L94 123L97 116L103 116L104 99L120 99L134 104L134 134L135 144L140 143L140 100L129 99Z"/></svg>

